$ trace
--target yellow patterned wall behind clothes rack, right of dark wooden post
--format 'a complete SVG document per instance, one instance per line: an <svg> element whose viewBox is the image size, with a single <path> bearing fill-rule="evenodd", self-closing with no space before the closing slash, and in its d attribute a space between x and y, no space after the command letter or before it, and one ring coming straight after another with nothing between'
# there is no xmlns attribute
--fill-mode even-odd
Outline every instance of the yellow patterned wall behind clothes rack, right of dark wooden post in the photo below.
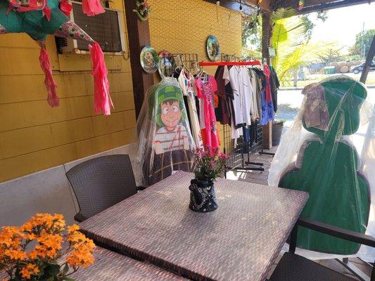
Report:
<svg viewBox="0 0 375 281"><path fill-rule="evenodd" d="M241 56L241 13L203 0L149 0L151 46L156 51L197 53L198 60L208 60L206 40L215 35L221 53ZM215 74L217 67L205 67ZM155 81L159 79L155 74ZM217 123L223 143L222 126Z"/></svg>

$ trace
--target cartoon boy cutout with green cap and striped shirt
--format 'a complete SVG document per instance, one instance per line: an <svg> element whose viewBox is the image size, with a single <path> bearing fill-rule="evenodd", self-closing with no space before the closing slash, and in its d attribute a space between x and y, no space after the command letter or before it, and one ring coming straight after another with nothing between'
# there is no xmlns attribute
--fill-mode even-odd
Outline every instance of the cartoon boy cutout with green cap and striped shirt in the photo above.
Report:
<svg viewBox="0 0 375 281"><path fill-rule="evenodd" d="M152 97L151 97L152 98ZM154 150L144 162L144 175L147 185L157 183L172 174L172 171L193 171L193 154L189 123L178 86L167 84L155 91L155 136ZM152 114L149 112L149 114Z"/></svg>

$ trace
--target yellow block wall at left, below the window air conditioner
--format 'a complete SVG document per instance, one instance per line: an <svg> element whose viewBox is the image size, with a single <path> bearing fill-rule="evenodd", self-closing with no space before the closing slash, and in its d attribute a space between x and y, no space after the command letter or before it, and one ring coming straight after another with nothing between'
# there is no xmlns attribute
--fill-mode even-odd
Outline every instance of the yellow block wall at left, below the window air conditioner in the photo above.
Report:
<svg viewBox="0 0 375 281"><path fill-rule="evenodd" d="M124 11L122 0L111 1L110 6ZM122 25L126 33L125 21ZM89 55L58 55L53 36L47 44L61 99L56 108L46 103L39 46L25 34L0 36L0 182L134 140L136 119L127 53L106 56L115 110L103 117L93 111Z"/></svg>

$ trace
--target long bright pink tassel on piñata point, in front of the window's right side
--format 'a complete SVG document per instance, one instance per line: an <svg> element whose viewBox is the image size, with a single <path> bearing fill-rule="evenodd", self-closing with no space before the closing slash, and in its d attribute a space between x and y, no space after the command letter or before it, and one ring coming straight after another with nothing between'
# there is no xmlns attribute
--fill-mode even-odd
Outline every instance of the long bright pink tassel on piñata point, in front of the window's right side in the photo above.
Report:
<svg viewBox="0 0 375 281"><path fill-rule="evenodd" d="M89 44L92 63L92 76L94 77L94 104L95 113L103 112L110 115L110 107L113 107L109 93L108 70L104 61L104 54L98 43Z"/></svg>

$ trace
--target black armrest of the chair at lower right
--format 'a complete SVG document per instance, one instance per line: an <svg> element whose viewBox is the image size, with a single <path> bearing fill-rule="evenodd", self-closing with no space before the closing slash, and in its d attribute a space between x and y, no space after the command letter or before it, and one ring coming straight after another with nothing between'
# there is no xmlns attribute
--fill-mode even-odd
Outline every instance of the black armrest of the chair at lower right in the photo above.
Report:
<svg viewBox="0 0 375 281"><path fill-rule="evenodd" d="M319 231L319 233L324 233L327 235L331 235L334 237L338 237L351 242L356 242L375 248L375 238L370 235L357 233L355 231L347 230L344 228L338 228L337 226L331 226L326 223L320 223L319 221L312 221L307 218L299 218L297 224L298 226L303 226L304 228Z"/></svg>

